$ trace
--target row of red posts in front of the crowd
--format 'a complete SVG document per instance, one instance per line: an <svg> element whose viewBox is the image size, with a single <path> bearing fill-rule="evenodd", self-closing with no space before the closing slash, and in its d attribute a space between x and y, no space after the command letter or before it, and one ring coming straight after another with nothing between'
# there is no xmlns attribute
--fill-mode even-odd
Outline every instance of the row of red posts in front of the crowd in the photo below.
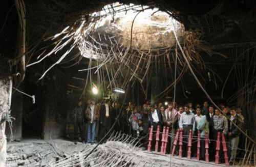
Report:
<svg viewBox="0 0 256 167"><path fill-rule="evenodd" d="M163 133L162 133L162 140L161 140L161 151L160 154L164 155L166 153L166 147L168 144L168 133L169 133L169 127L163 127ZM159 144L159 136L160 136L160 126L157 126L157 132L156 132L156 145L155 145L155 152L158 152L158 144ZM200 159L200 147L201 147L201 133L198 131L198 140L197 140L197 160ZM219 152L220 152L220 138L222 137L222 146L223 146L223 152L224 152L224 158L225 158L225 164L229 165L228 162L228 154L227 154L227 144L225 140L224 133L218 132L217 135L217 141L216 141L216 155L215 155L215 163L219 164ZM148 145L147 145L147 152L151 151L152 147L152 141L153 141L153 126L150 127L149 130L149 137L148 137ZM172 156L174 156L176 147L179 145L179 157L182 157L182 141L183 141L183 132L181 129L178 129L173 143L173 150L172 150ZM191 147L192 147L192 130L189 131L188 135L188 150L187 150L187 158L191 159ZM205 161L209 162L209 136L207 131L205 132Z"/></svg>

